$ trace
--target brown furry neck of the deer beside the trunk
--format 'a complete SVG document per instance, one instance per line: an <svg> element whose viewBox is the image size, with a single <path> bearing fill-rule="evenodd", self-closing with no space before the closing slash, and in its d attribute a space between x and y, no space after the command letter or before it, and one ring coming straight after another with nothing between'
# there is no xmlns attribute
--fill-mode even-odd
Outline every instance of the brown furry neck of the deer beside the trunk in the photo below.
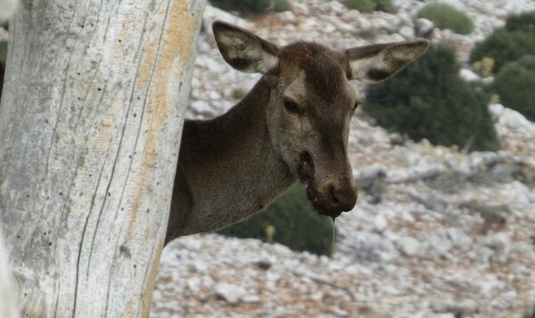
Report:
<svg viewBox="0 0 535 318"><path fill-rule="evenodd" d="M186 120L179 168L193 208L184 234L232 224L264 208L294 181L271 141L267 117L270 87L264 79L225 115Z"/></svg>

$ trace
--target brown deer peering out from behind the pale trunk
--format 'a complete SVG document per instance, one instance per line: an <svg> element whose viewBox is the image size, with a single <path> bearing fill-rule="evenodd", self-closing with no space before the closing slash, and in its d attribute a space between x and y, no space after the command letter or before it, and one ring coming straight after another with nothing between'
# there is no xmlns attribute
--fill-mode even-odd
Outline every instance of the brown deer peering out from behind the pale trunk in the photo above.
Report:
<svg viewBox="0 0 535 318"><path fill-rule="evenodd" d="M321 215L352 210L348 142L361 97L350 81L393 76L429 41L335 51L304 41L281 47L220 20L212 30L226 63L261 77L218 118L185 120L165 244L251 216L295 182Z"/></svg>

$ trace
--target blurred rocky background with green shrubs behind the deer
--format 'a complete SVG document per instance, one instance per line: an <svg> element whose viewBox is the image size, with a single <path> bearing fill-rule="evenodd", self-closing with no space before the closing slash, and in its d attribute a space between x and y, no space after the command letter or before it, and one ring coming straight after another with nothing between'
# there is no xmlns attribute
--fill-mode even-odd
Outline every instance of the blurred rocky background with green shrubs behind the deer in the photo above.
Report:
<svg viewBox="0 0 535 318"><path fill-rule="evenodd" d="M333 224L300 186L267 211L164 250L152 317L534 317L535 2L212 0L188 118L259 79L231 69L213 20L278 45L432 46L356 86L357 207ZM251 177L254 177L251 175Z"/></svg>

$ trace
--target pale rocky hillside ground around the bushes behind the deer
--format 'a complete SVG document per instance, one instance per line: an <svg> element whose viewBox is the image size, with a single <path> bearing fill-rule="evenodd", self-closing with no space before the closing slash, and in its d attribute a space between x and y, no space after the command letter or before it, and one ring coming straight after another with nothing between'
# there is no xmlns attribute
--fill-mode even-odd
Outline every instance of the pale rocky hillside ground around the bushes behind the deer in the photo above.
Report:
<svg viewBox="0 0 535 318"><path fill-rule="evenodd" d="M221 59L215 19L281 45L310 39L342 48L431 32L466 59L508 14L535 9L529 0L444 2L473 18L473 34L432 30L415 20L424 5L415 0L397 1L395 15L294 0L292 12L256 20L208 6L187 116L225 112L259 78ZM467 66L464 73L474 76ZM336 220L333 257L217 234L181 238L164 250L151 316L522 317L535 304L535 124L499 104L490 111L498 153L413 143L358 113L350 159L368 195Z"/></svg>

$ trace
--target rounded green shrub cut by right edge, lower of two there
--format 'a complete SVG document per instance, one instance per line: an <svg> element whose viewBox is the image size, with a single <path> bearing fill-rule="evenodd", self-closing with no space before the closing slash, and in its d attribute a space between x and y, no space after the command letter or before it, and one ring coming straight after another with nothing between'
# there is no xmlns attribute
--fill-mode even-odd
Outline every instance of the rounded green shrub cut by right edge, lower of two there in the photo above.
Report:
<svg viewBox="0 0 535 318"><path fill-rule="evenodd" d="M535 53L535 52L534 52ZM494 91L506 107L535 121L535 55L506 64L494 79Z"/></svg>

